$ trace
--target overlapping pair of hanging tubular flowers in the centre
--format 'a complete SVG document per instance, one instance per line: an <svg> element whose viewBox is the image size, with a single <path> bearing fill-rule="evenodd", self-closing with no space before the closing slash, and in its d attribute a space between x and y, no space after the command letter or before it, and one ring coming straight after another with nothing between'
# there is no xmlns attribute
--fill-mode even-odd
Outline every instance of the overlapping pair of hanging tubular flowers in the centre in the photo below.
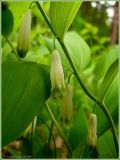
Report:
<svg viewBox="0 0 120 160"><path fill-rule="evenodd" d="M55 49L51 60L51 95L53 98L61 97L60 118L65 125L69 125L73 119L72 86L65 87L64 72L59 52Z"/></svg>

